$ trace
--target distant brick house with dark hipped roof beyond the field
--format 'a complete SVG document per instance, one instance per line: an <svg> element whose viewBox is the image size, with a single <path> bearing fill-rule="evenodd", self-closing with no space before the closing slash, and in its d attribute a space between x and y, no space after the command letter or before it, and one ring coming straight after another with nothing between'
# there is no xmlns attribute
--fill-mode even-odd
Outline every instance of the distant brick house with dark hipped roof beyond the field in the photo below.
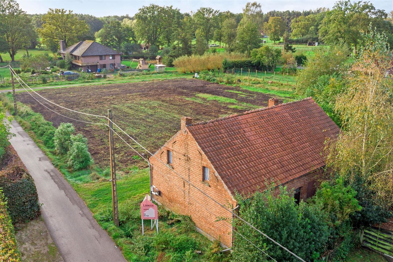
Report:
<svg viewBox="0 0 393 262"><path fill-rule="evenodd" d="M108 48L93 40L84 40L65 47L64 41L60 41L60 54L64 59L67 53L73 57L72 65L74 68L81 68L84 72L88 69L96 72L97 69L113 70L120 66L120 56L123 53L115 49Z"/></svg>

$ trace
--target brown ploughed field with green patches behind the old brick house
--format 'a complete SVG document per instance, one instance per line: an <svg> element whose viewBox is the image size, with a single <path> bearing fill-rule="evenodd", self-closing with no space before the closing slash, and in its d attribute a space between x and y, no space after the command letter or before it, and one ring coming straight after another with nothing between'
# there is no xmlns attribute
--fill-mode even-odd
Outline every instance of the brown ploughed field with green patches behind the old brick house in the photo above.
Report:
<svg viewBox="0 0 393 262"><path fill-rule="evenodd" d="M227 92L232 90L235 92ZM46 89L39 91L61 106L73 110L106 115L107 109L112 108L113 121L135 137L147 149L154 152L180 128L180 117L193 117L195 122L215 119L225 115L241 113L249 109L248 103L258 107L267 105L270 95L251 92L239 87L213 84L196 79L174 79L165 81L149 81L125 84L108 84L84 87L69 87ZM239 103L222 103L195 97L197 93L206 93L221 97L236 99ZM33 94L39 101L56 112L74 119L106 123L105 119L86 117L74 112L61 109ZM194 99L194 100L191 100ZM62 122L71 122L78 132L88 138L88 146L95 163L108 166L108 135L107 127L81 123L62 117L35 101L28 93L19 93L17 100L29 104L35 112L40 112L47 121L58 126ZM241 105L241 109L234 106ZM126 137L124 137L126 139ZM136 158L136 153L125 143L115 138L117 143L116 161L123 167L130 165L145 166ZM131 145L130 139L126 139ZM137 150L145 155L141 148Z"/></svg>

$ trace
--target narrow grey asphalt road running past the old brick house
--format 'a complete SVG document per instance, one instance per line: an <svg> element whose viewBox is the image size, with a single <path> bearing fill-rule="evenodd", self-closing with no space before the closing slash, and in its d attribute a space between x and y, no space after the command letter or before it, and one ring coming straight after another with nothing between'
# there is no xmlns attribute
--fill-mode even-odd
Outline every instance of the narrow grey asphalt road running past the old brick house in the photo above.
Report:
<svg viewBox="0 0 393 262"><path fill-rule="evenodd" d="M121 251L34 141L14 120L10 142L37 186L41 213L66 262L125 262Z"/></svg>

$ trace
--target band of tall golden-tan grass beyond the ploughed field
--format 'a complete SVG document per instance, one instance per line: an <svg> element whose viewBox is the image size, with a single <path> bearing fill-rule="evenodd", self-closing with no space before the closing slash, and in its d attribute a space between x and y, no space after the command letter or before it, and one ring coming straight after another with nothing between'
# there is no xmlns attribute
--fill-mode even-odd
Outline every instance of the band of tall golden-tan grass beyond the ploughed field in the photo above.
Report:
<svg viewBox="0 0 393 262"><path fill-rule="evenodd" d="M224 59L241 59L244 55L239 53L206 53L204 55L182 56L174 60L173 64L177 71L199 72L206 70L217 70L222 68L222 61Z"/></svg>

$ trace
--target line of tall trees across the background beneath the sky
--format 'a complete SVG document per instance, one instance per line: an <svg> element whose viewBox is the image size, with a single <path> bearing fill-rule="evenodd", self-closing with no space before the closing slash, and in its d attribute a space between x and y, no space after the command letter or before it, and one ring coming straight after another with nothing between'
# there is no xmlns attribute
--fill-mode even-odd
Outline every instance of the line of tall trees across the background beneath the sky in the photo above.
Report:
<svg viewBox="0 0 393 262"><path fill-rule="evenodd" d="M369 24L384 31L393 46L393 11L389 15L369 2L338 1L329 10L269 11L261 4L248 2L241 13L201 7L181 13L173 6L150 4L134 16L95 17L74 14L71 10L49 9L45 14L28 15L15 0L0 1L0 53L15 60L18 49L39 45L56 53L59 40L67 46L80 40L96 40L125 54L138 53L140 44L154 53L167 47L166 55L202 55L209 43L216 41L226 50L251 55L259 48L261 37L285 43L319 41L325 44L344 42L357 55L358 46L368 33ZM0 62L2 58L0 56Z"/></svg>

